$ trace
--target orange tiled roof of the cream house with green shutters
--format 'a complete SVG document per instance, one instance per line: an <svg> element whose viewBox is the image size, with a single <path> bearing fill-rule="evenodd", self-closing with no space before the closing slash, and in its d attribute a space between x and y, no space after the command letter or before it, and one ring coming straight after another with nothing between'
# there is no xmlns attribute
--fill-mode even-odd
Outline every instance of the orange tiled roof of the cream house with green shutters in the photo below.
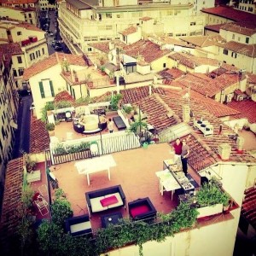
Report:
<svg viewBox="0 0 256 256"><path fill-rule="evenodd" d="M45 58L42 61L38 61L38 63L33 64L31 67L27 67L24 70L23 80L28 80L32 78L32 76L43 72L44 70L49 69L50 67L54 67L55 65L61 65L61 62L67 59L67 62L70 65L84 66L86 67L86 61L82 55L67 55L64 53L55 53L53 55L49 55L49 57Z"/></svg>

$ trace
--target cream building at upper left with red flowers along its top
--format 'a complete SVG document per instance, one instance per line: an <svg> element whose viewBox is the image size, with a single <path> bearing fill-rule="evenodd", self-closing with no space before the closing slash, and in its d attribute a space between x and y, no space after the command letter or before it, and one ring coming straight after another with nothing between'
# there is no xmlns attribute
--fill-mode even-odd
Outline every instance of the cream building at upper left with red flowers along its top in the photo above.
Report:
<svg viewBox="0 0 256 256"><path fill-rule="evenodd" d="M45 32L37 26L14 20L0 20L0 44L17 44L20 51L14 51L12 73L16 87L22 87L24 68L31 67L49 56ZM17 54L19 52L19 54Z"/></svg>

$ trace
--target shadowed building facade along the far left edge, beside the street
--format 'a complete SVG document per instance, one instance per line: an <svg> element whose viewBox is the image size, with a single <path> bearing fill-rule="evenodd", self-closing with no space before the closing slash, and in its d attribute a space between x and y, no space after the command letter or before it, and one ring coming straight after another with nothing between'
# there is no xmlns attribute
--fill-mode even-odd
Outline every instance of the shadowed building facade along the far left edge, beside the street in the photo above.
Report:
<svg viewBox="0 0 256 256"><path fill-rule="evenodd" d="M0 200L2 200L5 167L12 157L17 129L18 97L12 73L12 49L9 44L0 45Z"/></svg>

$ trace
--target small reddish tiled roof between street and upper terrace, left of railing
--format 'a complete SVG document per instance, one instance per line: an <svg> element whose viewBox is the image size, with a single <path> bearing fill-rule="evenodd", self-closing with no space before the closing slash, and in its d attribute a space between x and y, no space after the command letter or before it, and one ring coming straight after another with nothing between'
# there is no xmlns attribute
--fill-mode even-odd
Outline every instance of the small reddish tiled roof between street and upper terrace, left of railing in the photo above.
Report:
<svg viewBox="0 0 256 256"><path fill-rule="evenodd" d="M49 148L49 134L44 123L32 117L30 135L30 153L41 153Z"/></svg>

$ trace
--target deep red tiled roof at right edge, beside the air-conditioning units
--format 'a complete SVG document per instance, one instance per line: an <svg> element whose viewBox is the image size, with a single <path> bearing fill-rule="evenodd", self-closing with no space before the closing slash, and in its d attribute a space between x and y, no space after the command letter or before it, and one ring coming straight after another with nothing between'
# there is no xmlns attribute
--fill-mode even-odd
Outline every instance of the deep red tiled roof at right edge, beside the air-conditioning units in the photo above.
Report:
<svg viewBox="0 0 256 256"><path fill-rule="evenodd" d="M250 124L256 123L256 102L253 102L251 99L241 102L232 100L232 102L227 103L227 106L240 112L240 114L234 115L233 118L246 118Z"/></svg>

